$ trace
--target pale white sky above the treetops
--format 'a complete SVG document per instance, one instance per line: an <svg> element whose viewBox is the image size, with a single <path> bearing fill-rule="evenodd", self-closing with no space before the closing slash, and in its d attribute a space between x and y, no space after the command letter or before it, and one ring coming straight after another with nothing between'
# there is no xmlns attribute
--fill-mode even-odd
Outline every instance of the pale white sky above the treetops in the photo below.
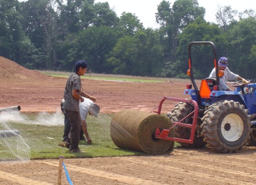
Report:
<svg viewBox="0 0 256 185"><path fill-rule="evenodd" d="M138 19L143 23L144 27L152 27L153 29L159 27L155 22L155 13L157 13L157 6L162 0L95 0L97 2L109 2L110 9L113 9L118 17L123 11L126 13L134 13ZM175 0L169 0L171 6ZM246 9L254 9L256 11L256 1L252 0L198 0L199 6L205 7L205 20L208 22L216 22L215 14L219 6L231 6L233 10L239 12Z"/></svg>

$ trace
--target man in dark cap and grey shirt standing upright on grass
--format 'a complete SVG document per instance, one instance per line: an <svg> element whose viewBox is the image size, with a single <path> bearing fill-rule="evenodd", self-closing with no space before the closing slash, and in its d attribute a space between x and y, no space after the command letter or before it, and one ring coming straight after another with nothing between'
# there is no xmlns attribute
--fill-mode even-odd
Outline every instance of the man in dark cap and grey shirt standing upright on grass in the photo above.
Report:
<svg viewBox="0 0 256 185"><path fill-rule="evenodd" d="M83 97L93 99L96 98L87 95L85 92L81 92L82 83L81 75L84 75L87 70L87 63L85 61L78 61L75 64L74 73L72 73L67 79L66 87L64 90L63 109L65 110L67 119L70 122L69 139L65 142L65 147L69 148L70 152L82 152L79 147L79 137L81 132L81 119L79 113L79 100L84 101Z"/></svg>

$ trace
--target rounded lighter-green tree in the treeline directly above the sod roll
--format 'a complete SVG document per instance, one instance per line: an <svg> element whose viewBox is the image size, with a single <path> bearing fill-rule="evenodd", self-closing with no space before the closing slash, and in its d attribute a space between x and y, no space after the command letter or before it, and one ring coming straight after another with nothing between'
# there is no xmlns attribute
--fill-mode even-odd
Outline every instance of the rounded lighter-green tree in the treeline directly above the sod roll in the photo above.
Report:
<svg viewBox="0 0 256 185"><path fill-rule="evenodd" d="M159 35L153 29L137 31L135 36L125 35L107 59L115 74L159 77L163 65L163 49Z"/></svg>

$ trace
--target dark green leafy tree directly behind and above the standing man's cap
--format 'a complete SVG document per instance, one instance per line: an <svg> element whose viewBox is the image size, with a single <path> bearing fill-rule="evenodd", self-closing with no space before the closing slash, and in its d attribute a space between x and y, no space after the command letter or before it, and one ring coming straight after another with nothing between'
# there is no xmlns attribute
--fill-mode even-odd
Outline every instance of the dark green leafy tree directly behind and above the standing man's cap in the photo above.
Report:
<svg viewBox="0 0 256 185"><path fill-rule="evenodd" d="M92 26L66 39L70 41L66 42L65 46L69 51L65 61L67 69L71 69L75 61L85 59L94 73L110 73L106 55L117 42L113 29L107 26Z"/></svg>

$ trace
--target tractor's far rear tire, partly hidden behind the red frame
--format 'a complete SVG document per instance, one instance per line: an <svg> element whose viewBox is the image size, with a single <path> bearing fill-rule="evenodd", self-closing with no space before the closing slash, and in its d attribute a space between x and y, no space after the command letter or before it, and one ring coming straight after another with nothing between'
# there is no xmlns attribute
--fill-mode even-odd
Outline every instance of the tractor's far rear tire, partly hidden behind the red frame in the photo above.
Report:
<svg viewBox="0 0 256 185"><path fill-rule="evenodd" d="M179 102L178 104L175 105L171 114L167 116L169 116L169 118L171 119L171 122L179 122L180 120L185 118L185 116L189 115L189 113L193 110L194 110L194 107L191 104L186 102ZM193 119L191 118L191 116L187 117L186 120L182 121L182 123L187 123L187 124L192 124L192 122L193 122ZM189 139L190 133L191 133L191 128L181 127L181 126L174 127L174 134L176 138ZM182 142L178 142L178 143L181 144L181 146L184 148L203 148L206 146L206 143L203 141L203 137L198 138L196 131L194 135L193 144L182 143Z"/></svg>

